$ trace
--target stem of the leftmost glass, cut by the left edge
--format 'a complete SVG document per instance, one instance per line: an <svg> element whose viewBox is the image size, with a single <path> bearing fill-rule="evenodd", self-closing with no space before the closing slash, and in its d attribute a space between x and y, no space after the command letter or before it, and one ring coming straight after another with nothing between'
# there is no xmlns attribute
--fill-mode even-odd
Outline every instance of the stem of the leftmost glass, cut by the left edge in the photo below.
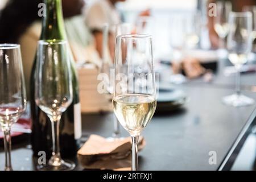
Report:
<svg viewBox="0 0 256 182"><path fill-rule="evenodd" d="M2 130L5 145L5 171L13 171L13 167L11 167L11 128L3 127Z"/></svg>

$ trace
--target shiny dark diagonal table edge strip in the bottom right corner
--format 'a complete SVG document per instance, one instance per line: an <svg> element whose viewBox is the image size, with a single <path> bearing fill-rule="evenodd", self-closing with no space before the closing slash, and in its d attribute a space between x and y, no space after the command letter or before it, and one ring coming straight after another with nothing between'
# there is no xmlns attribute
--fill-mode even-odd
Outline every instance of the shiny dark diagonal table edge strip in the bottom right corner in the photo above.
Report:
<svg viewBox="0 0 256 182"><path fill-rule="evenodd" d="M256 108L253 113L250 115L249 119L243 126L240 134L236 138L235 142L230 147L228 154L226 154L225 158L222 160L220 166L218 167L218 171L227 171L230 170L235 162L235 159L240 152L243 143L245 142L247 136L251 133L251 127L253 127L256 122Z"/></svg>

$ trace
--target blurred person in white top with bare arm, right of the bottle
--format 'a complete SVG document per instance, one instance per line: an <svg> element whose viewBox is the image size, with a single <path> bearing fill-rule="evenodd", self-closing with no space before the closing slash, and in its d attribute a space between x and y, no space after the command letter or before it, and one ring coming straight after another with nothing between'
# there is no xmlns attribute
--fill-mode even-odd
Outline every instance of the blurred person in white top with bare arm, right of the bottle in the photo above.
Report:
<svg viewBox="0 0 256 182"><path fill-rule="evenodd" d="M97 0L86 10L85 23L94 36L96 50L100 57L102 57L102 28L104 24L112 26L122 23L121 15L115 5L118 2L125 1L126 0ZM139 16L150 16L150 10L142 11Z"/></svg>

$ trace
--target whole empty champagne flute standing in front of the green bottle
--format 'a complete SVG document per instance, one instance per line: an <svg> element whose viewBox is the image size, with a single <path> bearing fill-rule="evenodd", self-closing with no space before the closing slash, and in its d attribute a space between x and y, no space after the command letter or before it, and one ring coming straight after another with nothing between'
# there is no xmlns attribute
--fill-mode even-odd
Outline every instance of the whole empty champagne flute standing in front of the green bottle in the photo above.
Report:
<svg viewBox="0 0 256 182"><path fill-rule="evenodd" d="M52 156L38 170L67 171L73 162L60 156L59 132L61 114L73 101L72 71L68 43L63 40L40 40L36 60L35 102L47 114L52 127Z"/></svg>

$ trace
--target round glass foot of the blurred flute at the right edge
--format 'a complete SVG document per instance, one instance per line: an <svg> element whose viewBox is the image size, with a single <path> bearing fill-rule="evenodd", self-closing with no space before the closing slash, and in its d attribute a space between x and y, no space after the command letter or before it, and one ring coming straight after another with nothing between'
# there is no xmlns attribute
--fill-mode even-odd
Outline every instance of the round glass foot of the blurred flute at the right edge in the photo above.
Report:
<svg viewBox="0 0 256 182"><path fill-rule="evenodd" d="M222 98L222 102L228 106L242 107L254 104L253 98L244 96L243 94L232 94Z"/></svg>

